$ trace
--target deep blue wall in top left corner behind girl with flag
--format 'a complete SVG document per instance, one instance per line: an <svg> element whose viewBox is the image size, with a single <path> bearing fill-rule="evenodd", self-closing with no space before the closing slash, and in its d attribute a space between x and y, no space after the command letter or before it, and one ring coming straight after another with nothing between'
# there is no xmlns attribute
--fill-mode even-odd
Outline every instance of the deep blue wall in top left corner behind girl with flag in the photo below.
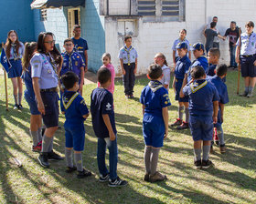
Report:
<svg viewBox="0 0 256 204"><path fill-rule="evenodd" d="M0 42L5 42L7 33L16 30L22 42L34 40L33 12L30 9L31 0L1 0Z"/></svg>

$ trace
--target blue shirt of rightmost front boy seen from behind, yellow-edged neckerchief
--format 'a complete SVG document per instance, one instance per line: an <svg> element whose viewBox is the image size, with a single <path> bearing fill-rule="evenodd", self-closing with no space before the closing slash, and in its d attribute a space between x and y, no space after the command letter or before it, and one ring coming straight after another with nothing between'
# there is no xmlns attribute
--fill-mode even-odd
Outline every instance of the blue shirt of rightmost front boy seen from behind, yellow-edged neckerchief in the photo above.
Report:
<svg viewBox="0 0 256 204"><path fill-rule="evenodd" d="M183 94L188 96L189 113L191 115L212 116L213 101L219 101L219 93L213 84L206 79L195 80L183 88Z"/></svg>

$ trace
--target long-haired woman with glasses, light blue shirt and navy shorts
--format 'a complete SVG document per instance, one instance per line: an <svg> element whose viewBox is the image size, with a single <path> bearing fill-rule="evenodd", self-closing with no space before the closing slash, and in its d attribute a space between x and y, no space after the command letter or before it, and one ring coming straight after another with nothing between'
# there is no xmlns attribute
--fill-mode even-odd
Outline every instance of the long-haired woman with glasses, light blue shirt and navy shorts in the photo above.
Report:
<svg viewBox="0 0 256 204"><path fill-rule="evenodd" d="M58 69L62 64L52 33L39 34L37 53L30 60L30 64L37 108L46 126L38 161L41 166L48 168L48 160L63 159L52 150L53 136L59 126Z"/></svg>

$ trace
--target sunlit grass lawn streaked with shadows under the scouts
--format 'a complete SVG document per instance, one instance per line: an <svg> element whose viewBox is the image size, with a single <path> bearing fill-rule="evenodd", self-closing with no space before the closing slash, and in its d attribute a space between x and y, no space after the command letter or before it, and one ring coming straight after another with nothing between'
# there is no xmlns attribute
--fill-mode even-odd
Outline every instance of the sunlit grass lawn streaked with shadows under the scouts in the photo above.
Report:
<svg viewBox="0 0 256 204"><path fill-rule="evenodd" d="M37 162L38 154L31 151L27 102L23 100L25 108L22 112L13 110L12 85L8 80L10 106L9 111L5 111L4 76L0 76L0 203L256 203L256 97L238 97L236 81L237 72L229 71L229 104L225 107L223 124L228 149L221 155L215 147L215 153L210 156L215 168L194 169L190 131L170 128L158 163L158 170L166 174L168 180L152 184L143 181L143 116L139 103L141 90L148 80L136 80L134 100L124 98L122 81L116 80L118 174L129 184L122 189L110 189L98 181L97 139L91 127L91 117L85 122L83 161L93 173L92 177L77 179L76 173L65 173L65 161L50 162L50 168L42 168ZM95 86L84 87L88 105ZM177 103L172 89L170 98L169 119L174 121ZM64 119L60 115L62 127ZM62 156L64 144L62 128L54 140L54 148ZM22 161L22 168L17 168L14 157Z"/></svg>

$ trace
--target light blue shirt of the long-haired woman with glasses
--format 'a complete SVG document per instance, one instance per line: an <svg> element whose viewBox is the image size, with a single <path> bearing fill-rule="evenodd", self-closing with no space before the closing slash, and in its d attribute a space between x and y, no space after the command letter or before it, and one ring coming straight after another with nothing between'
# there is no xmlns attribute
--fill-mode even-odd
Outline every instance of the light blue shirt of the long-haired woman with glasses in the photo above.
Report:
<svg viewBox="0 0 256 204"><path fill-rule="evenodd" d="M38 77L41 89L58 87L57 65L50 63L51 56L36 53L30 60L32 78Z"/></svg>

